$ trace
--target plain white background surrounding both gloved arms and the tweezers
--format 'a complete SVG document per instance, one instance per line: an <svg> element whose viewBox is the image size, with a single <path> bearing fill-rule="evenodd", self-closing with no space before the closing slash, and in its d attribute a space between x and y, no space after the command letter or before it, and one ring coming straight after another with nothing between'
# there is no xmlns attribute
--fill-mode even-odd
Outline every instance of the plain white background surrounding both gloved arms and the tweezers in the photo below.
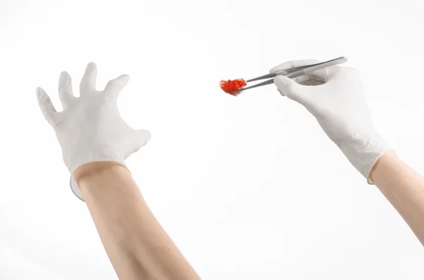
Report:
<svg viewBox="0 0 424 280"><path fill-rule="evenodd" d="M152 139L127 164L203 279L424 279L416 237L302 106L218 87L347 56L424 174L423 1L34 2L0 1L0 279L117 279L35 97L61 109L59 73L78 95L90 61L99 88L131 75L119 109Z"/></svg>

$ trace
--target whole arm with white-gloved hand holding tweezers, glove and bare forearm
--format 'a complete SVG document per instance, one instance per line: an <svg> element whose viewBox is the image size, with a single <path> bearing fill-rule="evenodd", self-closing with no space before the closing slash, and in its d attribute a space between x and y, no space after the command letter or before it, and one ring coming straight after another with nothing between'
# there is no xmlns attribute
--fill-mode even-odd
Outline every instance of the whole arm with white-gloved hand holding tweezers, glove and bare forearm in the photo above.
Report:
<svg viewBox="0 0 424 280"><path fill-rule="evenodd" d="M288 61L270 72L318 62ZM281 95L305 106L355 169L368 183L377 185L423 243L424 180L394 156L375 130L358 71L334 66L293 80L278 76L274 83Z"/></svg>

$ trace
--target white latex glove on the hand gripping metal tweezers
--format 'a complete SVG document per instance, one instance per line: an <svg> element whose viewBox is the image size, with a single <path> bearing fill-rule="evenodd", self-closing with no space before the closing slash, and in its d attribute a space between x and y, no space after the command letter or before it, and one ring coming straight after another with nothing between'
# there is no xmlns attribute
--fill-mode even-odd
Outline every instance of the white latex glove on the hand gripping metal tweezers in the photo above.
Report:
<svg viewBox="0 0 424 280"><path fill-rule="evenodd" d="M319 62L288 61L272 68L270 73ZM372 166L390 147L372 124L358 71L333 66L293 80L278 75L274 84L281 95L302 104L317 118L326 135L372 184Z"/></svg>

